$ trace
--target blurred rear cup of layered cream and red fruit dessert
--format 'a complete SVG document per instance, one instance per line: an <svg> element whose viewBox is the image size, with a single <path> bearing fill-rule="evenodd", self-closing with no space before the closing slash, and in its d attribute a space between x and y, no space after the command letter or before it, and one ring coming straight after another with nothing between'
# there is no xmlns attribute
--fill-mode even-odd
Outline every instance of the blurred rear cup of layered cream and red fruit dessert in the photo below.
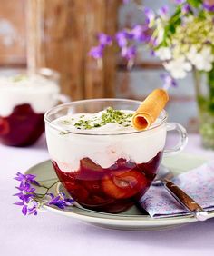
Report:
<svg viewBox="0 0 214 256"><path fill-rule="evenodd" d="M58 103L59 91L58 74L50 69L0 76L0 143L33 144L44 132L44 113Z"/></svg>

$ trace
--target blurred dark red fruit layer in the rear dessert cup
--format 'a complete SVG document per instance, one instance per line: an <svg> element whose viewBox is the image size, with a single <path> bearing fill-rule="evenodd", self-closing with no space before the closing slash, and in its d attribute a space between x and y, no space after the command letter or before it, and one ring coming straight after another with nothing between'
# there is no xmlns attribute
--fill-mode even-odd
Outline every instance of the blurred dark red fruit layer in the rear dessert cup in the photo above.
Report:
<svg viewBox="0 0 214 256"><path fill-rule="evenodd" d="M0 142L9 146L28 146L44 133L44 113L34 113L28 103L17 105L13 113L0 116Z"/></svg>

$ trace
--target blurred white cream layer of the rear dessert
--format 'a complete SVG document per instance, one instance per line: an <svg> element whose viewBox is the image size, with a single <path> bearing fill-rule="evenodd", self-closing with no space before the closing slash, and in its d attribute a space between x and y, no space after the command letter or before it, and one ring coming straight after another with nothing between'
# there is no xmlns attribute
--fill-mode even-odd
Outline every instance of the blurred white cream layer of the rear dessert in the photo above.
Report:
<svg viewBox="0 0 214 256"><path fill-rule="evenodd" d="M29 103L35 113L45 113L58 102L59 86L41 75L0 77L0 116L16 105Z"/></svg>

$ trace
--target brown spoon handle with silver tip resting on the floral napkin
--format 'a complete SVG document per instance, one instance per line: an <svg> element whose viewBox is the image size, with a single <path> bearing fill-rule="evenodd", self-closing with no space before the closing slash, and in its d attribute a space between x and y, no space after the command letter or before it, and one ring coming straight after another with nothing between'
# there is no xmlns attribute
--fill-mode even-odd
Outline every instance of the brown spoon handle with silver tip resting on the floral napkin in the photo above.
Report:
<svg viewBox="0 0 214 256"><path fill-rule="evenodd" d="M205 212L204 209L186 192L183 192L177 185L167 179L163 179L162 182L167 191L170 192L170 194L190 213L192 213L197 220L205 221L208 219L208 212Z"/></svg>

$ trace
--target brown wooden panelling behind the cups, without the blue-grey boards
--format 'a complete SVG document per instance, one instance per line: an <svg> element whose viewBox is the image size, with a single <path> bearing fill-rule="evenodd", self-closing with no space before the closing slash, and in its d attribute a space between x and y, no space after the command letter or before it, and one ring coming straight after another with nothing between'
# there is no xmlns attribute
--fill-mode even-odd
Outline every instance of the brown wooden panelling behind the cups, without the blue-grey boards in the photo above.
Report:
<svg viewBox="0 0 214 256"><path fill-rule="evenodd" d="M0 0L0 65L27 64L33 72L39 67L53 68L61 74L63 93L73 100L113 97L115 54L109 49L99 69L88 52L97 44L98 32L116 31L120 3Z"/></svg>

